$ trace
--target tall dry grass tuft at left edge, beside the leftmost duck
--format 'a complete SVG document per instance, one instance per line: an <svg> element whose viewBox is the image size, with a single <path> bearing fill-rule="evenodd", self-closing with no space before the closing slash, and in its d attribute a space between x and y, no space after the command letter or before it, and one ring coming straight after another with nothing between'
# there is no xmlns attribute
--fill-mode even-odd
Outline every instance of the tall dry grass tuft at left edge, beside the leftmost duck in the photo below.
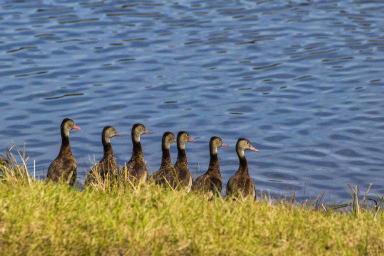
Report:
<svg viewBox="0 0 384 256"><path fill-rule="evenodd" d="M12 146L7 148L5 156L0 155L0 182L9 182L12 184L30 184L32 182L26 167L26 161L29 157L25 158L25 143L23 145L22 154L17 146L12 141ZM21 159L22 164L17 163L16 157L11 152L15 149Z"/></svg>

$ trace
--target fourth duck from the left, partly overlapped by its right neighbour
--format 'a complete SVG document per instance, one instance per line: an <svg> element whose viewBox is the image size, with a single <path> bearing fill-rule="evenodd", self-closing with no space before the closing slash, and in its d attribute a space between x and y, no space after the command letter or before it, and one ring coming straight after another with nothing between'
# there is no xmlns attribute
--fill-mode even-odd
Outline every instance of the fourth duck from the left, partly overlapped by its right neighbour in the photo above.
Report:
<svg viewBox="0 0 384 256"><path fill-rule="evenodd" d="M164 183L165 175L172 169L172 161L170 159L170 144L176 142L173 132L165 131L161 138L161 164L160 168L149 176L149 180L154 180L156 184Z"/></svg>

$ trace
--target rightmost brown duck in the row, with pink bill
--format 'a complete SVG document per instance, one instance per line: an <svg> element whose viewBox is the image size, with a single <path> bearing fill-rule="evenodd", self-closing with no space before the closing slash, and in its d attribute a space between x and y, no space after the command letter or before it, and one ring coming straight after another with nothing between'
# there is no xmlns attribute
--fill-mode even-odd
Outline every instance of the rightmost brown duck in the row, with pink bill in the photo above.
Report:
<svg viewBox="0 0 384 256"><path fill-rule="evenodd" d="M226 196L241 197L243 200L247 197L256 199L256 191L254 189L253 180L248 173L248 162L246 161L244 150L258 152L248 139L237 139L236 153L239 165L236 173L228 179L226 184Z"/></svg>

